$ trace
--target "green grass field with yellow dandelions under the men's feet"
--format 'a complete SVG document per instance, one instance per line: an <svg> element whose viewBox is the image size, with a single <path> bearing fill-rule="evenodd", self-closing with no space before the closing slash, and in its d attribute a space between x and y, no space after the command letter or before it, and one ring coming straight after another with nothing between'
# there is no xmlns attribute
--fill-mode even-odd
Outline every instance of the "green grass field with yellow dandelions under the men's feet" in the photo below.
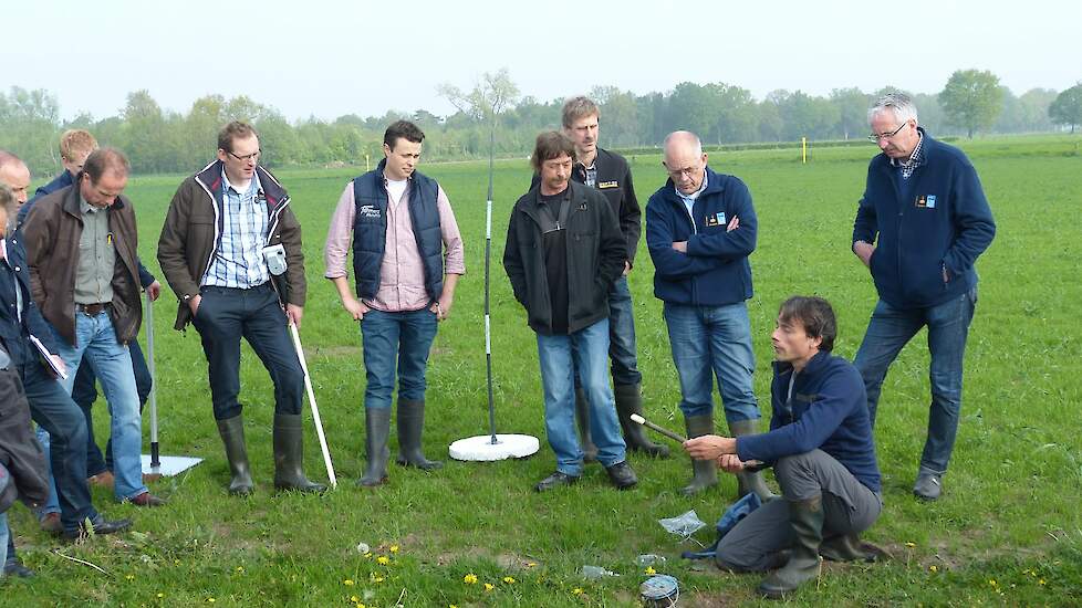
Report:
<svg viewBox="0 0 1082 608"><path fill-rule="evenodd" d="M924 504L909 493L929 401L927 352L918 336L891 369L876 429L886 506L866 537L887 547L893 558L828 565L818 586L793 596L794 605L1082 604L1082 439L1075 410L1082 402L1082 156L1078 139L1068 137L963 146L980 174L998 233L978 262L981 282L966 357L963 421L944 496ZM751 258L756 296L748 306L758 357L756 388L764 407L769 334L777 306L788 295L828 297L840 322L836 352L852 357L860 344L875 293L849 249L874 151L871 145L813 149L808 165L800 164L799 150L710 159L716 170L749 185L759 214L759 245ZM664 174L656 156L632 160L645 207ZM482 321L487 164L422 170L439 179L450 196L468 265L428 374L427 451L430 458L446 458L451 441L482 434L488 424ZM250 500L226 495L228 472L211 416L207 364L198 334L171 329L176 298L167 292L155 305L163 452L206 461L152 485L169 499L165 509L118 505L111 492L95 489L98 507L134 517L137 532L92 538L79 547L59 545L38 531L25 509L13 509L23 559L39 577L4 583L0 604L634 606L646 578L635 557L644 553L668 557L656 568L679 579L683 606L761 601L753 593L757 575L721 574L708 563L682 560L680 552L697 545L680 543L656 522L694 509L709 524L695 539L710 543L712 523L735 496L731 476L722 475L715 491L686 499L677 492L689 475L686 457L655 461L632 455L641 480L632 491L613 491L596 464L587 467L575 488L544 495L531 491L554 461L544 441L533 333L499 264L511 205L530 180L524 159L497 164L492 349L499 430L538 436L541 452L523 461L452 462L434 474L392 464L389 485L375 491L354 486L363 465L360 333L322 279L322 245L337 197L356 172L279 175L304 227L310 286L301 334L339 489L322 497L274 495L272 389L246 346L241 401L258 492ZM157 270L157 234L180 179L135 178L127 190L138 209L141 251L152 271ZM679 389L652 273L644 243L631 285L646 410L682 428ZM96 411L104 442L104 402ZM308 472L322 479L308 418ZM148 420L144 431L148 450ZM362 542L371 545L370 555L358 553ZM91 562L106 574L65 556ZM579 569L586 564L621 576L585 580Z"/></svg>

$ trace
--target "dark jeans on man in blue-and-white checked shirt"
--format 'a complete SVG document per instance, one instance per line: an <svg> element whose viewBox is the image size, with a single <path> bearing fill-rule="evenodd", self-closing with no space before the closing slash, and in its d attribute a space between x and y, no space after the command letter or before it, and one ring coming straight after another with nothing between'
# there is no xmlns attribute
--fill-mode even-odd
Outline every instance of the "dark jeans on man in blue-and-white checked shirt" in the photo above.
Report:
<svg viewBox="0 0 1082 608"><path fill-rule="evenodd" d="M289 336L285 312L270 283L250 290L202 287L193 324L209 363L215 419L240 416L240 338L251 345L274 382L274 412L301 413L304 371Z"/></svg>

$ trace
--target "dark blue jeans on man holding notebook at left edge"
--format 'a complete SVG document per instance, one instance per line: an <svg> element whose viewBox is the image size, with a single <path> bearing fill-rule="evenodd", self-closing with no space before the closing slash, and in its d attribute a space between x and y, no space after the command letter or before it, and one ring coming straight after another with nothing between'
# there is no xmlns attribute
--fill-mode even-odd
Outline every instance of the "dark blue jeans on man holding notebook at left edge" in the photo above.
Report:
<svg viewBox="0 0 1082 608"><path fill-rule="evenodd" d="M64 387L50 378L37 360L19 366L30 402L30 417L50 437L49 463L60 499L64 530L97 517L86 484L86 419Z"/></svg>

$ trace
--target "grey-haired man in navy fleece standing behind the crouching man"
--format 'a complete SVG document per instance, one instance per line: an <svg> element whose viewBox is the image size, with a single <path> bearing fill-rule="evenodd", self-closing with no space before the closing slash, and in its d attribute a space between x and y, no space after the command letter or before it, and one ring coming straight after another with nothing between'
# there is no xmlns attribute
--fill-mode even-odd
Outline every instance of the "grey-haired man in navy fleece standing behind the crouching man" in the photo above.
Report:
<svg viewBox="0 0 1082 608"><path fill-rule="evenodd" d="M874 428L887 369L927 326L932 406L913 493L934 501L958 432L963 359L977 305L974 264L991 244L996 223L969 159L917 126L907 95L883 96L867 116L868 139L882 154L868 165L853 253L871 271L880 300L853 363Z"/></svg>

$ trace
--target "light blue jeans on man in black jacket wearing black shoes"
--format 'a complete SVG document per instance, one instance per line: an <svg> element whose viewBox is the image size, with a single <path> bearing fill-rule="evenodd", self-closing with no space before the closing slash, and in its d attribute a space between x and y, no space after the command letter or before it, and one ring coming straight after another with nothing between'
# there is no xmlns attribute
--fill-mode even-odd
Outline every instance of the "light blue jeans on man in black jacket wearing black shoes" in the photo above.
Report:
<svg viewBox="0 0 1082 608"><path fill-rule="evenodd" d="M590 402L590 431L597 445L597 462L612 467L625 459L624 438L605 363L608 354L608 319L570 335L538 334L538 358L544 389L544 431L556 454L556 471L582 474L582 447L575 433L574 376Z"/></svg>

